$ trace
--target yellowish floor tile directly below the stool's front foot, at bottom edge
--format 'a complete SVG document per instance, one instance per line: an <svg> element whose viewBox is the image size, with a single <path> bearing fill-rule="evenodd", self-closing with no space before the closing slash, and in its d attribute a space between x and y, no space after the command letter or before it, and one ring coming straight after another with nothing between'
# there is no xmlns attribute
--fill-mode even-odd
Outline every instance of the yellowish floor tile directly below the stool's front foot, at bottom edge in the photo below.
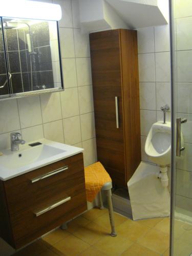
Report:
<svg viewBox="0 0 192 256"><path fill-rule="evenodd" d="M117 256L128 249L132 244L133 242L129 239L125 239L120 236L114 238L108 236L99 240L96 244L93 245L93 247L101 252L104 252L106 255Z"/></svg>

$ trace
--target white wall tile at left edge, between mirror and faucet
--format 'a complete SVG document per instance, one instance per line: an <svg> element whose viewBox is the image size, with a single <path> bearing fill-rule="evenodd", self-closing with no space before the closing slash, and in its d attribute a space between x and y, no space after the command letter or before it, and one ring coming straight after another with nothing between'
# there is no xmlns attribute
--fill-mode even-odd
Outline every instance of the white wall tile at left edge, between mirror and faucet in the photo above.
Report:
<svg viewBox="0 0 192 256"><path fill-rule="evenodd" d="M17 100L0 101L0 134L20 129Z"/></svg>

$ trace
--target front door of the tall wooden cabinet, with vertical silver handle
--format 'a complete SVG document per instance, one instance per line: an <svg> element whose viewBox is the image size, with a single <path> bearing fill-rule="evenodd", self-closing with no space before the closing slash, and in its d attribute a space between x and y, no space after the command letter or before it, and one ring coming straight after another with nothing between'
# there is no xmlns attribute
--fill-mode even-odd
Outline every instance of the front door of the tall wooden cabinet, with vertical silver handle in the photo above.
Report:
<svg viewBox="0 0 192 256"><path fill-rule="evenodd" d="M97 157L112 180L124 185L124 138L119 30L90 34ZM118 101L118 124L116 101Z"/></svg>

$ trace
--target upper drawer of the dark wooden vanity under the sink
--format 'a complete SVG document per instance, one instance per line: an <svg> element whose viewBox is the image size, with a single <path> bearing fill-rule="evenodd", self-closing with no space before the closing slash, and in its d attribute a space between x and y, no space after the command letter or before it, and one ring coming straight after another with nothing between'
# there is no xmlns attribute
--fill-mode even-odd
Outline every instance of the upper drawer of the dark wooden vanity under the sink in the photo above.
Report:
<svg viewBox="0 0 192 256"><path fill-rule="evenodd" d="M62 172L47 176L60 168ZM39 177L45 177L37 180ZM35 181L35 182L33 182ZM23 211L24 208L38 206L45 202L49 204L52 196L65 191L74 196L77 185L84 183L84 168L82 154L60 160L32 172L18 176L4 183L10 214Z"/></svg>

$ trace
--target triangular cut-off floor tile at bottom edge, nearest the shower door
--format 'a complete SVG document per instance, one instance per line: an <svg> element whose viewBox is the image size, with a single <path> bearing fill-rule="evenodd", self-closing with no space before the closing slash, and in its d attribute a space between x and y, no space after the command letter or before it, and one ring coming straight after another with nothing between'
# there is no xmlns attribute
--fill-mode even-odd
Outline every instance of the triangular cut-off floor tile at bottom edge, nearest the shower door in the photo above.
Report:
<svg viewBox="0 0 192 256"><path fill-rule="evenodd" d="M135 243L126 251L124 251L121 255L122 256L159 256L160 254L140 244Z"/></svg>

